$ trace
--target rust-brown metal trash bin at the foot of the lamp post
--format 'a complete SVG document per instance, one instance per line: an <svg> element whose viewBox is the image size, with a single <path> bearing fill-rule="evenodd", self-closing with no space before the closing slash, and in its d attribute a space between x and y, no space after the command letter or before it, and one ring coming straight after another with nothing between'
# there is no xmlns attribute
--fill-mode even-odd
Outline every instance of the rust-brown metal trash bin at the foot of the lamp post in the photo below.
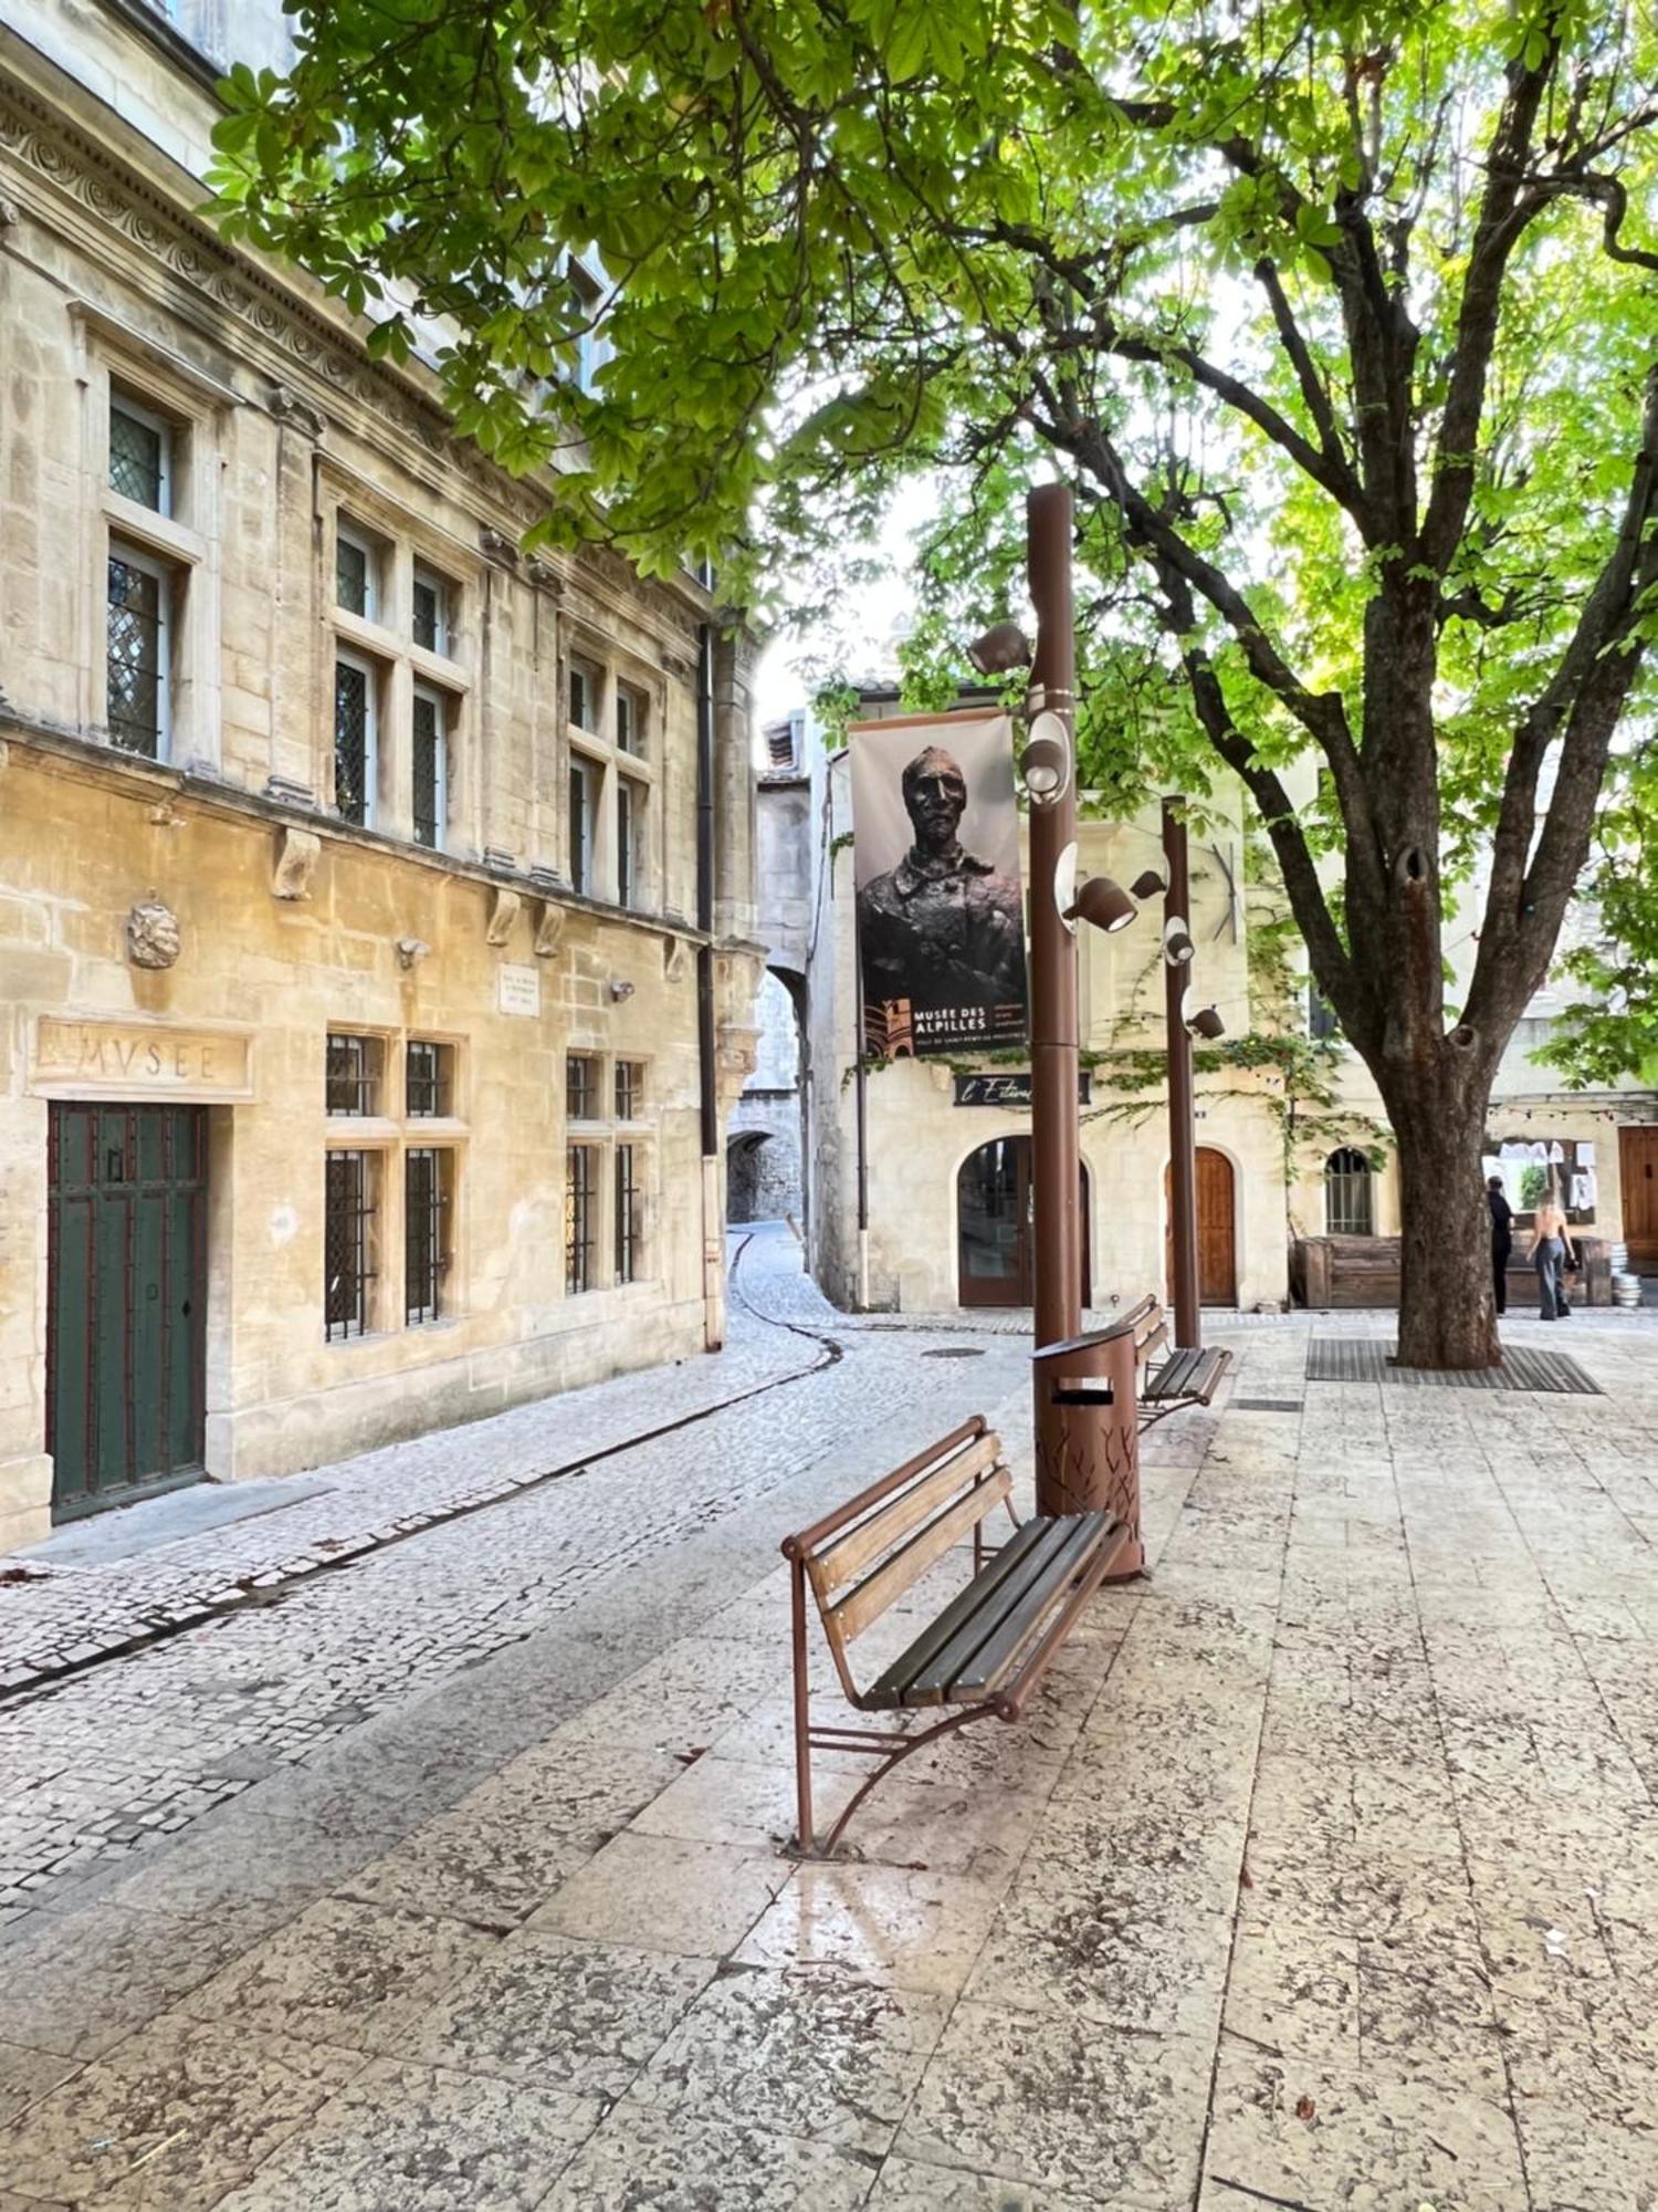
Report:
<svg viewBox="0 0 1658 2212"><path fill-rule="evenodd" d="M1141 1425L1132 1318L1032 1354L1037 1513L1114 1513L1123 1544L1110 1579L1138 1575Z"/></svg>

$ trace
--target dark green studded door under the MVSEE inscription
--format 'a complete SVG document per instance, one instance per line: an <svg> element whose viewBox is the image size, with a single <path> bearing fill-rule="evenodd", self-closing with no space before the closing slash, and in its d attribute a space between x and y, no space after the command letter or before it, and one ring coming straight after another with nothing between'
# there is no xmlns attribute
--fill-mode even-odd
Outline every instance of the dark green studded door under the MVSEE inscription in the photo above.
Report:
<svg viewBox="0 0 1658 2212"><path fill-rule="evenodd" d="M206 1115L51 1108L53 1517L201 1473Z"/></svg>

